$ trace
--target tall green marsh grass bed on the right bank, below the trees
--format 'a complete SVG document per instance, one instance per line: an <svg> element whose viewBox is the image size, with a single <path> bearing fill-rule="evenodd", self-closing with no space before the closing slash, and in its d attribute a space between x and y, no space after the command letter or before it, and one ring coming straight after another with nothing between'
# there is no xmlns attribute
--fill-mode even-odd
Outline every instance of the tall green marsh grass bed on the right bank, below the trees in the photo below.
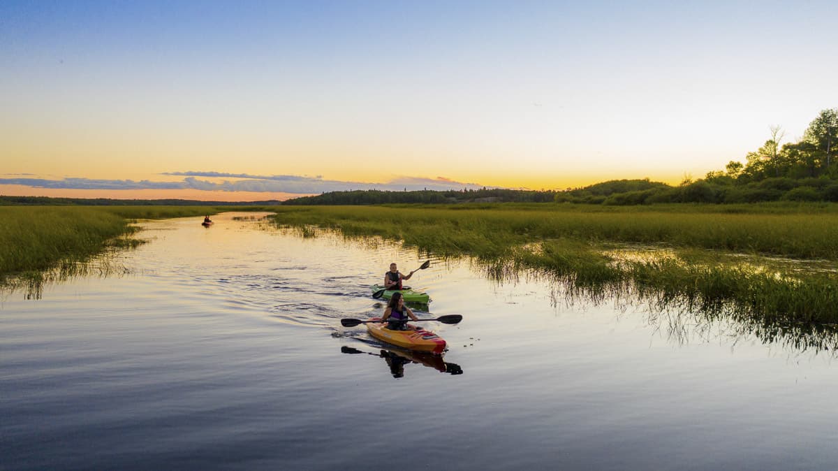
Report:
<svg viewBox="0 0 838 471"><path fill-rule="evenodd" d="M544 272L587 298L631 292L660 310L738 313L770 324L838 323L833 205L318 206L281 207L274 218L281 226L401 241L443 258L471 256L495 279ZM620 244L656 246L659 254L620 256ZM792 269L776 257L815 260L822 269Z"/></svg>

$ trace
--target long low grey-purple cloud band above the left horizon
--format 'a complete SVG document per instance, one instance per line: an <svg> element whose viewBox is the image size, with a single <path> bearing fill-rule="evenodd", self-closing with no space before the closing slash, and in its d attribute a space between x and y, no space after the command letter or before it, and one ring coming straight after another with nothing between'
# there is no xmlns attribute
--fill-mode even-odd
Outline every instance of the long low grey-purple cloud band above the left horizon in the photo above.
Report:
<svg viewBox="0 0 838 471"><path fill-rule="evenodd" d="M424 179L416 177L400 177L386 183L364 183L342 180L324 180L320 176L304 177L299 175L251 175L248 173L222 172L168 172L164 175L184 176L179 182L154 182L151 180L105 180L68 178L59 180L49 179L0 179L0 184L17 184L33 188L47 189L201 189L206 191L249 191L256 193L290 193L290 194L319 194L330 191L347 191L354 189L380 189L385 191L402 190L447 190L447 189L479 189L483 185L468 184L437 177ZM200 179L199 177L204 177ZM210 181L211 179L225 179ZM229 180L228 180L229 179Z"/></svg>

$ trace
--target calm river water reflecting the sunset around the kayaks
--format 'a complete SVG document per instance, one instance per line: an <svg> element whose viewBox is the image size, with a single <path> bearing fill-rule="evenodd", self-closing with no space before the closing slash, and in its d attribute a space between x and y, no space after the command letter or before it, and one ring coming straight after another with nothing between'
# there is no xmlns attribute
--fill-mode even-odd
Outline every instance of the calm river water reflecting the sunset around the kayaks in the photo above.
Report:
<svg viewBox="0 0 838 471"><path fill-rule="evenodd" d="M425 323L450 349L411 362L339 319L380 314L369 286L423 258L236 216L142 223L150 242L111 261L127 273L5 293L0 469L838 461L834 351L434 260L409 282L432 295L419 314L464 320Z"/></svg>

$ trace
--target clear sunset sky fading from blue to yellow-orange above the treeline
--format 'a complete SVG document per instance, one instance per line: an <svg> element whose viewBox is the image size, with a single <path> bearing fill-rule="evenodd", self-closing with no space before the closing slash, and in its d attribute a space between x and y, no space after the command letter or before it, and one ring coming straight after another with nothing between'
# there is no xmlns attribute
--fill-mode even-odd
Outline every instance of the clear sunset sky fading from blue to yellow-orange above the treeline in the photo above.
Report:
<svg viewBox="0 0 838 471"><path fill-rule="evenodd" d="M838 106L838 2L0 3L0 194L677 184Z"/></svg>

